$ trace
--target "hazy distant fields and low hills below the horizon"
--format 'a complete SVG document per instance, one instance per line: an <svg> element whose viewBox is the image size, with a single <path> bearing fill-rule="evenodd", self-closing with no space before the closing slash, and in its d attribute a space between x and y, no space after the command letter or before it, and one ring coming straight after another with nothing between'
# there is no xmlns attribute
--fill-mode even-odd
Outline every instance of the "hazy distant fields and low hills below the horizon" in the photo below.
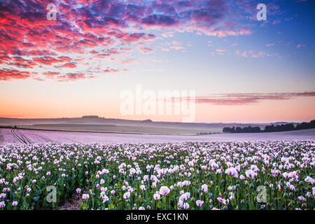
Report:
<svg viewBox="0 0 315 224"><path fill-rule="evenodd" d="M104 132L124 134L165 134L190 136L199 133L221 133L223 127L265 127L269 124L237 123L176 123L111 118L55 118L20 119L0 118L2 126L17 126L30 130L57 130L69 132Z"/></svg>

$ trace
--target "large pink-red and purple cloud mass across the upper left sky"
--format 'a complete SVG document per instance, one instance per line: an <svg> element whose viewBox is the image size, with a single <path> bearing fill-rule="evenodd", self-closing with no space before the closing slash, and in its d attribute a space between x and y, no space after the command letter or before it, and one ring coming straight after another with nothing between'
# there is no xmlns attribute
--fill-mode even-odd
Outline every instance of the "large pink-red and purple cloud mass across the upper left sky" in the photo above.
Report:
<svg viewBox="0 0 315 224"><path fill-rule="evenodd" d="M56 21L46 19L48 3L26 0L0 2L0 64L3 69L34 73L53 66L56 71L52 72L68 77L67 80L77 80L80 73L73 71L77 74L73 77L78 78L71 78L69 69L99 71L93 77L101 76L105 68L97 67L102 59L116 63L131 62L132 49L153 52L154 48L144 45L158 38L172 37L175 32L218 37L252 33L250 21L241 22L253 13L253 6L244 2L55 1ZM236 6L249 8L230 13ZM279 9L274 7L271 10ZM184 49L179 41L173 41L170 48ZM88 62L90 59L94 64ZM44 80L44 73L38 73L34 78ZM22 77L27 77L26 74ZM10 77L13 80L20 76Z"/></svg>

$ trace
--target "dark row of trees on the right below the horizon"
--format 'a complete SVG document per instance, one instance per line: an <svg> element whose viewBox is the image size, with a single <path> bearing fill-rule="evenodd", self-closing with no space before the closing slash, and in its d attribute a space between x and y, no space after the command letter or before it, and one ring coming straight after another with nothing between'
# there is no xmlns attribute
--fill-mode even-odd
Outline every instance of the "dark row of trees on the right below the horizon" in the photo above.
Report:
<svg viewBox="0 0 315 224"><path fill-rule="evenodd" d="M309 123L303 122L296 126L293 124L283 125L267 125L264 130L260 130L260 127L223 127L224 133L254 133L254 132L287 132L293 130L305 130L315 128L315 120L311 120Z"/></svg>

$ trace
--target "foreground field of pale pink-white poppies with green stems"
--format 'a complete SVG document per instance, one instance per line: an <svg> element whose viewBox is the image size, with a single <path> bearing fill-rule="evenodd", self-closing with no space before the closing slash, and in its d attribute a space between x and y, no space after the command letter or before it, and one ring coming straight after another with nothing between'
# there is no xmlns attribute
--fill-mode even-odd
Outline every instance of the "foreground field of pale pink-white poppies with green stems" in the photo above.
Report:
<svg viewBox="0 0 315 224"><path fill-rule="evenodd" d="M6 145L0 210L314 210L314 165L315 141Z"/></svg>

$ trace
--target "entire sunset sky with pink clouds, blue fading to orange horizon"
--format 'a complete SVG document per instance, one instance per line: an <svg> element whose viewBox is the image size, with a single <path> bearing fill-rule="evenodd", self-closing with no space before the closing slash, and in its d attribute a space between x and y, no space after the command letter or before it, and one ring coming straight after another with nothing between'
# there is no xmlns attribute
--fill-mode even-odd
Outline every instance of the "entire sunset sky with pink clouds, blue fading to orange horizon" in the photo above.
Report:
<svg viewBox="0 0 315 224"><path fill-rule="evenodd" d="M257 19L258 3L266 20ZM194 91L177 97L195 102L193 122L313 120L314 6L0 0L0 117L183 121L183 113L123 113L121 94L136 104L140 85L142 93Z"/></svg>

